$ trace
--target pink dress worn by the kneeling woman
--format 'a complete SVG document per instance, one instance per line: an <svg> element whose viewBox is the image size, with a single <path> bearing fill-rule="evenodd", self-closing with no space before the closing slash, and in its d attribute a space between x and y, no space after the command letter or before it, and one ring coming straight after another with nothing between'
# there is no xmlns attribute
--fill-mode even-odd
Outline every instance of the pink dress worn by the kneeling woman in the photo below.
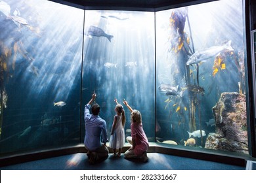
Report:
<svg viewBox="0 0 256 183"><path fill-rule="evenodd" d="M131 137L132 139L135 139L136 142L136 146L134 149L134 153L136 156L142 155L143 152L148 150L148 138L144 133L142 123L131 123Z"/></svg>

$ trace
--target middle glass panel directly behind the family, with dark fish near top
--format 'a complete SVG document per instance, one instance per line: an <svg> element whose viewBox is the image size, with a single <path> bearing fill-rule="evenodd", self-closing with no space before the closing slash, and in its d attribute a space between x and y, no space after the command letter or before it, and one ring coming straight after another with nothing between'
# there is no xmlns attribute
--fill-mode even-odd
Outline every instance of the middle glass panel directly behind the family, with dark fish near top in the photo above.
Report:
<svg viewBox="0 0 256 183"><path fill-rule="evenodd" d="M82 107L97 94L108 135L116 98L140 110L144 131L154 141L154 12L85 11ZM125 135L131 135L125 108ZM84 123L81 129L84 137Z"/></svg>

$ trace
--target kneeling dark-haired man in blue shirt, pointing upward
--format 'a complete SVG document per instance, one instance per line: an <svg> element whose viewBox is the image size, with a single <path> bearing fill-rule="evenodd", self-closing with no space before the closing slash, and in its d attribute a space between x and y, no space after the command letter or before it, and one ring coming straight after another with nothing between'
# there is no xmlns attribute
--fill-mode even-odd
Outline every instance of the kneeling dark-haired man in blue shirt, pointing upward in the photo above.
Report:
<svg viewBox="0 0 256 183"><path fill-rule="evenodd" d="M87 156L89 163L94 164L98 159L108 157L108 141L106 122L100 116L100 106L95 103L96 93L93 92L91 100L85 105L85 148L87 149ZM92 114L90 114L90 108Z"/></svg>

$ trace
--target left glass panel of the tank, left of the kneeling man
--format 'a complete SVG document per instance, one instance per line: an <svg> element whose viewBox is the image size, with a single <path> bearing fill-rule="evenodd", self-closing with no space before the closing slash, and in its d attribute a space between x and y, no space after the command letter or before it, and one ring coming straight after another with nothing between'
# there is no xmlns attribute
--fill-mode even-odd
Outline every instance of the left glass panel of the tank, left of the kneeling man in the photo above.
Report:
<svg viewBox="0 0 256 183"><path fill-rule="evenodd" d="M80 142L83 10L0 1L0 151Z"/></svg>

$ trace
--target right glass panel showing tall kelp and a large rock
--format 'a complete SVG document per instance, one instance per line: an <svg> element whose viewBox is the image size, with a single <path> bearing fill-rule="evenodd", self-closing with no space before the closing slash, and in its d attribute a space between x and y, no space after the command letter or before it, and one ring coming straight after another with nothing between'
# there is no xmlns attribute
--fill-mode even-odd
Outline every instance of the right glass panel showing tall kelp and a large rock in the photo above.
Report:
<svg viewBox="0 0 256 183"><path fill-rule="evenodd" d="M244 7L223 0L156 12L156 136L248 153Z"/></svg>

